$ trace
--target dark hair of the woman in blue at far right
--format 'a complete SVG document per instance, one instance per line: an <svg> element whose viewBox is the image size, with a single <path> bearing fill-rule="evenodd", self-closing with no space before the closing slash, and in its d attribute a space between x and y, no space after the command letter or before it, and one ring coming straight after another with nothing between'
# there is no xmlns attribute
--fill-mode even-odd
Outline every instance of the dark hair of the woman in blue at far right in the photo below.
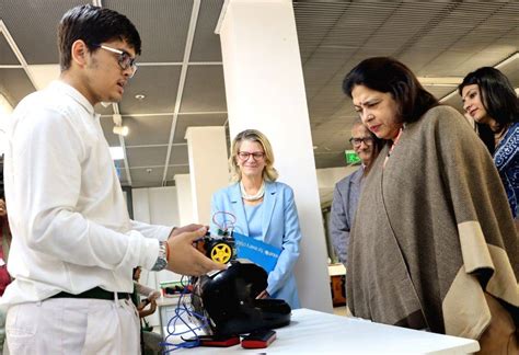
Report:
<svg viewBox="0 0 519 355"><path fill-rule="evenodd" d="M462 93L466 85L480 88L483 106L492 118L497 122L497 133L519 121L519 99L508 78L492 67L482 67L466 75L458 87Z"/></svg>

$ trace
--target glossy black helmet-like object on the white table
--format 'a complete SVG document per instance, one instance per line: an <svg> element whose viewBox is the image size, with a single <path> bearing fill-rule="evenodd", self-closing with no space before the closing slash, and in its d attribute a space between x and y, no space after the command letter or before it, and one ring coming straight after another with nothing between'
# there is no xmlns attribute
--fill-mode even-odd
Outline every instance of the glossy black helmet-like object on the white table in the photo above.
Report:
<svg viewBox="0 0 519 355"><path fill-rule="evenodd" d="M192 306L209 322L206 333L232 336L290 323L290 306L281 299L256 299L267 287L267 273L246 261L194 279Z"/></svg>

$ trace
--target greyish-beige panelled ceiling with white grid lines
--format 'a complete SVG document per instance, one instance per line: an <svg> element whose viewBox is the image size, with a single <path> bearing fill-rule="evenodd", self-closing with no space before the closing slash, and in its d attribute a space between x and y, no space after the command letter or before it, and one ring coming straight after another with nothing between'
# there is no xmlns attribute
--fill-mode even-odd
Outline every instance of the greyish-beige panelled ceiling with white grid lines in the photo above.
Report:
<svg viewBox="0 0 519 355"><path fill-rule="evenodd" d="M124 185L161 186L187 173L188 126L226 125L219 37L223 0L94 0L138 27L139 70L118 105L97 107ZM56 25L83 1L2 0L0 93L12 105L58 73ZM318 168L344 167L355 118L342 80L358 61L393 56L459 108L455 83L497 66L519 87L518 1L293 1ZM268 25L268 24L266 24ZM142 94L143 100L136 99ZM130 134L112 133L114 113Z"/></svg>

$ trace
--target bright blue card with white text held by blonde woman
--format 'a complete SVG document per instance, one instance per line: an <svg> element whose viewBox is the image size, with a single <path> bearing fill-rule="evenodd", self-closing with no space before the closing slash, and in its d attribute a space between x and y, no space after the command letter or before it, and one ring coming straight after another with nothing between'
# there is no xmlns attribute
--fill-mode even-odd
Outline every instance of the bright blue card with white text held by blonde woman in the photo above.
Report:
<svg viewBox="0 0 519 355"><path fill-rule="evenodd" d="M234 237L234 245L239 259L252 261L262 266L267 274L274 270L277 259L281 253L280 249L235 231L232 233L232 237Z"/></svg>

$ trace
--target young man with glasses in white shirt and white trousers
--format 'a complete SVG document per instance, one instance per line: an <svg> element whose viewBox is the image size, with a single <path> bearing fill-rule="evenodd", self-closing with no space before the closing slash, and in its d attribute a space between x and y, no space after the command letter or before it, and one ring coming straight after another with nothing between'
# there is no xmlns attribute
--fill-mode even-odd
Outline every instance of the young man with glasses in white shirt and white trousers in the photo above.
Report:
<svg viewBox="0 0 519 355"><path fill-rule="evenodd" d="M120 101L137 69L134 24L81 5L61 19L58 43L59 80L25 98L8 130L8 345L12 354L138 354L132 268L200 275L223 266L193 248L203 226L128 217L93 106Z"/></svg>

